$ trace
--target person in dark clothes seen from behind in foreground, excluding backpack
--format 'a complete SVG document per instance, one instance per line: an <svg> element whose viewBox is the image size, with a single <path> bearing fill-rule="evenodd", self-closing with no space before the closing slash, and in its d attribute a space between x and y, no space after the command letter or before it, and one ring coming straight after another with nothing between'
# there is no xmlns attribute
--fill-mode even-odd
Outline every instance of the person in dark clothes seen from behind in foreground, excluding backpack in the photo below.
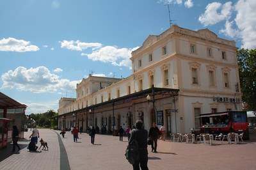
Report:
<svg viewBox="0 0 256 170"><path fill-rule="evenodd" d="M136 128L132 129L129 144L133 139L138 141L140 158L134 164L132 164L132 167L134 170L140 170L140 167L142 170L148 170L148 131L144 129L144 124L141 120L136 121L135 127Z"/></svg>

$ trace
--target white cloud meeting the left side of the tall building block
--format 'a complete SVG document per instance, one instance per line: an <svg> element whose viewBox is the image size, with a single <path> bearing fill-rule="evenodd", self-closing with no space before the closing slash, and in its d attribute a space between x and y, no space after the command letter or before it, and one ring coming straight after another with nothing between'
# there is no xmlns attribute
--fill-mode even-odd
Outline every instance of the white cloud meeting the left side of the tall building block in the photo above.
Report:
<svg viewBox="0 0 256 170"><path fill-rule="evenodd" d="M129 58L131 58L132 50L135 49L138 49L138 47L134 49L118 49L118 47L115 46L106 46L93 50L92 54L82 53L81 55L87 56L88 59L92 59L92 61L102 61L115 66L128 66L131 68L131 60Z"/></svg>

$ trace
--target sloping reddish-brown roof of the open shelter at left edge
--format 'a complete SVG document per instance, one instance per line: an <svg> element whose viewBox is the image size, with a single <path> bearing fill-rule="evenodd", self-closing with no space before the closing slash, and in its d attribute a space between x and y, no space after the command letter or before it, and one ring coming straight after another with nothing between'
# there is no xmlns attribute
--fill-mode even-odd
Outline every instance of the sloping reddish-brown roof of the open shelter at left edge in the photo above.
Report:
<svg viewBox="0 0 256 170"><path fill-rule="evenodd" d="M0 109L18 109L18 108L26 108L27 105L20 104L16 100L4 95L0 92Z"/></svg>

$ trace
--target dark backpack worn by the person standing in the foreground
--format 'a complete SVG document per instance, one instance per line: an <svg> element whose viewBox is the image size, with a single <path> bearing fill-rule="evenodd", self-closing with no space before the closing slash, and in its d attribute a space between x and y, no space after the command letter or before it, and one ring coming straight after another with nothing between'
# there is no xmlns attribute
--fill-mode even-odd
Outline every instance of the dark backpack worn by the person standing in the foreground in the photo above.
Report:
<svg viewBox="0 0 256 170"><path fill-rule="evenodd" d="M134 135L135 134L136 133L134 132ZM125 157L130 164L134 164L136 160L139 160L139 144L138 141L136 140L136 135L135 138L131 141L131 143L128 144L127 149L125 150Z"/></svg>

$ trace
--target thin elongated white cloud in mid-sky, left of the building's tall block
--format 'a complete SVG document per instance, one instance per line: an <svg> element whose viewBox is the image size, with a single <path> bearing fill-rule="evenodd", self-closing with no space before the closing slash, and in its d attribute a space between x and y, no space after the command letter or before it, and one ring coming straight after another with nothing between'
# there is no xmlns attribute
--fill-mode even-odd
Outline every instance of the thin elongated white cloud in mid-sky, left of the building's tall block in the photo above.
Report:
<svg viewBox="0 0 256 170"><path fill-rule="evenodd" d="M61 48L63 49L79 50L79 51L85 50L88 48L97 49L102 46L101 43L86 43L86 42L80 42L79 40L77 40L76 42L73 40L71 41L63 40L60 43L61 43Z"/></svg>

